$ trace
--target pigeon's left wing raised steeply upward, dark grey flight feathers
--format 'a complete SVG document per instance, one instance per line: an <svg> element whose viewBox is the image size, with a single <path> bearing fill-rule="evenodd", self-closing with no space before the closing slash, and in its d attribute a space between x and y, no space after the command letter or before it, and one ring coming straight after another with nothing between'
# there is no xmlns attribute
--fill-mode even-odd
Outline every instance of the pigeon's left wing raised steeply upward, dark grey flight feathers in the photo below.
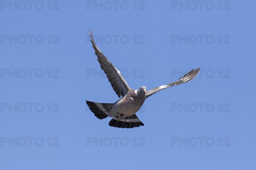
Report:
<svg viewBox="0 0 256 170"><path fill-rule="evenodd" d="M126 95L128 92L128 89L130 87L128 86L127 82L123 78L121 72L116 69L115 66L106 58L106 56L99 50L99 48L96 46L96 43L93 39L93 34L90 31L90 37L91 37L91 43L93 44L93 49L95 50L95 54L98 57L98 61L100 64L100 67L102 70L104 70L105 74L108 77L108 81L111 83L111 86L115 90L118 97L121 97Z"/></svg>

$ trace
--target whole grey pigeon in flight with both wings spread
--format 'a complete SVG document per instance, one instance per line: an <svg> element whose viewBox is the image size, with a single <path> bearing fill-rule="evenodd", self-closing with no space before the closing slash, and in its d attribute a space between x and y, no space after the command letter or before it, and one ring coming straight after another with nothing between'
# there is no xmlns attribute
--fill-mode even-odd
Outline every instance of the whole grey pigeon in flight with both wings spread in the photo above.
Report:
<svg viewBox="0 0 256 170"><path fill-rule="evenodd" d="M116 92L119 98L121 96L122 98L114 103L96 103L92 101L86 101L86 103L97 118L104 119L107 117L112 117L111 121L109 122L109 126L111 127L133 128L144 126L135 113L143 105L145 99L162 89L191 81L196 77L200 69L192 69L189 73L170 84L158 86L148 91L146 91L146 86L141 86L140 89L134 90L131 89L131 87L127 84L121 72L116 69L115 66L113 66L108 58L106 58L106 56L96 46L91 31L90 37L91 43L93 44L93 49L95 50L95 54L98 57L102 70L104 70L105 74L107 75L108 81L111 83L113 90Z"/></svg>

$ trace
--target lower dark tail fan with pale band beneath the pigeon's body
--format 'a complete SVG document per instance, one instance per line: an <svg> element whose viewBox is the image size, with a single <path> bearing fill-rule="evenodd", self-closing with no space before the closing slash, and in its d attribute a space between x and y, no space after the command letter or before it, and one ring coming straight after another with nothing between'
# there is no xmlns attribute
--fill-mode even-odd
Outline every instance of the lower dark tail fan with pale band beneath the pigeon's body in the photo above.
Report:
<svg viewBox="0 0 256 170"><path fill-rule="evenodd" d="M119 128L134 128L144 126L144 124L140 121L140 119L134 114L131 116L127 116L122 119L118 119L116 117L112 118L108 124L111 127L119 127Z"/></svg>

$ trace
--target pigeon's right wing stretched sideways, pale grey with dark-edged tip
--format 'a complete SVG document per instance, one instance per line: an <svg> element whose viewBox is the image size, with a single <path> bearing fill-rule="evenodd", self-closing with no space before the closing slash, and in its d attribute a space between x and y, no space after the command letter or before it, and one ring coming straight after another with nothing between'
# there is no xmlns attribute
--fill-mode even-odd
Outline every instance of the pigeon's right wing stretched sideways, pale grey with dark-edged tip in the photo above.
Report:
<svg viewBox="0 0 256 170"><path fill-rule="evenodd" d="M199 72L199 69L192 69L189 73L187 73L186 75L184 75L182 78L180 78L179 80L173 82L173 83L170 83L170 84L166 84L166 85L163 85L163 86L159 86L159 87L156 87L154 89L151 89L151 90L148 90L146 92L146 98L148 98L149 96L153 95L154 93L156 92L159 92L160 90L162 89L166 89L168 87L172 87L172 86L176 86L176 85L179 85L179 84L183 84L183 83L186 83L188 81L191 81L193 78L195 78L195 76L198 74Z"/></svg>

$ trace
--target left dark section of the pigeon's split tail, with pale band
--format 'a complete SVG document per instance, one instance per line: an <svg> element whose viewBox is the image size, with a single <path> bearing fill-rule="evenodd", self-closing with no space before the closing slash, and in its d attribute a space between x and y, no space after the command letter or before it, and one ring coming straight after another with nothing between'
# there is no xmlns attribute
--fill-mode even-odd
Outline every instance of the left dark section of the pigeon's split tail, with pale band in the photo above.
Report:
<svg viewBox="0 0 256 170"><path fill-rule="evenodd" d="M108 117L108 112L112 109L113 104L110 103L96 103L92 101L86 101L89 109L94 113L94 115L99 119L104 119Z"/></svg>

